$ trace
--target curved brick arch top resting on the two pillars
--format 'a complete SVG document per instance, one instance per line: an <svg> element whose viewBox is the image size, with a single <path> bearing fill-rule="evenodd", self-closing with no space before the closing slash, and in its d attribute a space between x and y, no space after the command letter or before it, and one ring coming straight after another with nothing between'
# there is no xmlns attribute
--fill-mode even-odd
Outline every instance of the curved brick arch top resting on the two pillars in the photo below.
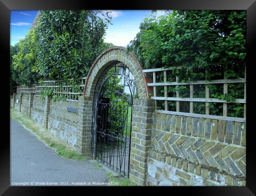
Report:
<svg viewBox="0 0 256 196"><path fill-rule="evenodd" d="M93 98L99 77L114 62L126 64L134 75L138 96L140 98L149 98L150 88L148 88L146 78L142 73L142 67L137 61L135 54L127 53L124 47L111 47L96 58L85 80L83 96Z"/></svg>

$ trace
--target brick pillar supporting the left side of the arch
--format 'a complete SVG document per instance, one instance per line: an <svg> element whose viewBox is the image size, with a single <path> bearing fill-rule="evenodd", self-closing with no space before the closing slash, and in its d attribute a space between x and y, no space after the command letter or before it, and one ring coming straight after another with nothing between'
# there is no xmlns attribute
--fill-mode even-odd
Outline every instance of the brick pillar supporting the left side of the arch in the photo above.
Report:
<svg viewBox="0 0 256 196"><path fill-rule="evenodd" d="M78 133L76 147L82 155L91 154L91 122L93 101L89 96L78 96Z"/></svg>

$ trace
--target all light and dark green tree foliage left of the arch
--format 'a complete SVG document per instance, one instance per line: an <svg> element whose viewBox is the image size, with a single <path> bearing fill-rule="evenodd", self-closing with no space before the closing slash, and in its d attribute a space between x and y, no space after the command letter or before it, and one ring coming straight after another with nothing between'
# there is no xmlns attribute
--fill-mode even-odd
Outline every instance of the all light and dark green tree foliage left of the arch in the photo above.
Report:
<svg viewBox="0 0 256 196"><path fill-rule="evenodd" d="M104 17L98 11L41 11L39 23L25 39L10 46L10 93L17 85L52 79L80 92L78 78L86 76L98 54L113 46L103 40L111 20L108 13Z"/></svg>

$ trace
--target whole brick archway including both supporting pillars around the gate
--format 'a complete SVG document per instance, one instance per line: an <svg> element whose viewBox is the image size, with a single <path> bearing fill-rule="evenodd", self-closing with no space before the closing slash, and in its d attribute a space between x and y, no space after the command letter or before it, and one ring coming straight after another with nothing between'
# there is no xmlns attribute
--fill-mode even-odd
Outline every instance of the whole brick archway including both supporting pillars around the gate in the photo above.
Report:
<svg viewBox="0 0 256 196"><path fill-rule="evenodd" d="M132 106L132 133L130 140L129 178L139 185L145 185L147 179L148 150L150 147L152 114L155 109L154 100L150 99L152 87L147 82L152 78L144 76L143 68L134 53L127 53L124 47L111 47L96 58L85 81L83 96L78 101L78 123L76 147L81 154L91 154L93 96L98 81L103 78L107 68L115 62L126 64L134 76L137 95ZM106 72L107 73L107 72ZM95 140L94 140L95 141Z"/></svg>

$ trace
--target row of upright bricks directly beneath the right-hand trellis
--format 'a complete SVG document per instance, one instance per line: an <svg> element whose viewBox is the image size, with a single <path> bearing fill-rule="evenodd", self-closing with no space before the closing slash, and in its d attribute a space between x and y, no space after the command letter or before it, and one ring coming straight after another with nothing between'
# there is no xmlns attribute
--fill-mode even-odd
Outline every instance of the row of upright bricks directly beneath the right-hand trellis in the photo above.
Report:
<svg viewBox="0 0 256 196"><path fill-rule="evenodd" d="M246 123L154 114L153 129L246 146Z"/></svg>

